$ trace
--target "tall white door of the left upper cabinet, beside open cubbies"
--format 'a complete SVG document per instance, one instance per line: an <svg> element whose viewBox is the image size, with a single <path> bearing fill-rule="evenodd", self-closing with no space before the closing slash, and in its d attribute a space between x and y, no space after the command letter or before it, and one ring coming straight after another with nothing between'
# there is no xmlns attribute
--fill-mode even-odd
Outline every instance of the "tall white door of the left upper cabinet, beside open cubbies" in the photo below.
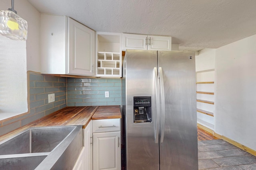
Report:
<svg viewBox="0 0 256 170"><path fill-rule="evenodd" d="M94 76L95 31L68 18L68 74Z"/></svg>

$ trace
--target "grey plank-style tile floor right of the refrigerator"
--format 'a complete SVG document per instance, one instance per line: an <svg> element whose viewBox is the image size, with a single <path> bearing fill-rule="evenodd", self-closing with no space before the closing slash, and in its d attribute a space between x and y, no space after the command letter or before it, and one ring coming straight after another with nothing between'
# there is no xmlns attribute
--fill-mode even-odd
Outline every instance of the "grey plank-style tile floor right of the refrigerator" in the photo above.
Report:
<svg viewBox="0 0 256 170"><path fill-rule="evenodd" d="M256 156L223 141L198 141L199 170L256 170Z"/></svg>

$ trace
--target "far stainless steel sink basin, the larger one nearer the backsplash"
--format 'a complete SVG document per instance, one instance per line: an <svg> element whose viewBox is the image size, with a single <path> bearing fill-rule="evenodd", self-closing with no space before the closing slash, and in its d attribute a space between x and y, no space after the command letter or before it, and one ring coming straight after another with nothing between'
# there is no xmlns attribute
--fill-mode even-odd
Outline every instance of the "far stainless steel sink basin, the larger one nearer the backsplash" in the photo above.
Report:
<svg viewBox="0 0 256 170"><path fill-rule="evenodd" d="M51 152L75 127L32 128L0 143L0 155Z"/></svg>

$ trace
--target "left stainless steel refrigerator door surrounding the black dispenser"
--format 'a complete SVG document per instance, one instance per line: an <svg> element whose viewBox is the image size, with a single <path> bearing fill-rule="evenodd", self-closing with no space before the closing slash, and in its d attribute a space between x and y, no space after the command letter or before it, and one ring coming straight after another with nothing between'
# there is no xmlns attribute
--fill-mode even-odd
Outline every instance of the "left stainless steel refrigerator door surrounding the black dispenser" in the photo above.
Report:
<svg viewBox="0 0 256 170"><path fill-rule="evenodd" d="M159 143L158 135L155 135L157 120L154 68L156 67L156 51L126 51L127 170L159 170ZM151 123L134 123L134 96L151 96Z"/></svg>

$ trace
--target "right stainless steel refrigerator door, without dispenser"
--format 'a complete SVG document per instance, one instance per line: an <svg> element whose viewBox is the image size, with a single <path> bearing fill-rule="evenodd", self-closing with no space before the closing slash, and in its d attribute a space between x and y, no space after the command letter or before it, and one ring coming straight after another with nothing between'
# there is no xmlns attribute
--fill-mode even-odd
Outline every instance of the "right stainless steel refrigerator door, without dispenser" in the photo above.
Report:
<svg viewBox="0 0 256 170"><path fill-rule="evenodd" d="M160 169L198 170L194 52L158 51L158 68L164 96Z"/></svg>

